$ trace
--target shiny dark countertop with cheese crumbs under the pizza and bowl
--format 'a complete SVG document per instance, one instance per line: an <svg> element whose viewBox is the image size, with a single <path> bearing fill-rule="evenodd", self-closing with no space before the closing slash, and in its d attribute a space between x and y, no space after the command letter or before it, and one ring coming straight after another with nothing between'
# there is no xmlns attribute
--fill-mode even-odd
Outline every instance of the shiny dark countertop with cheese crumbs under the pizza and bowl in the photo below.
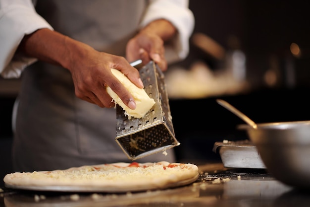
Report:
<svg viewBox="0 0 310 207"><path fill-rule="evenodd" d="M308 206L310 194L275 180L264 169L199 166L201 176L188 186L126 194L52 193L2 188L4 207L290 207ZM38 200L35 200L35 197ZM74 198L78 198L74 200ZM292 202L293 201L293 202Z"/></svg>

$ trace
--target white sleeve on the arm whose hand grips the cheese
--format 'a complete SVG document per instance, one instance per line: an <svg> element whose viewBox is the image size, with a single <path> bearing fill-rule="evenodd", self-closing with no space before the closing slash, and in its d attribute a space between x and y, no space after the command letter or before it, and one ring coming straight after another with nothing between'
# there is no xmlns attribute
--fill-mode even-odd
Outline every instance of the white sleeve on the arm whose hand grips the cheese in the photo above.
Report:
<svg viewBox="0 0 310 207"><path fill-rule="evenodd" d="M0 74L18 78L34 58L15 54L24 35L52 26L35 11L31 0L0 0Z"/></svg>

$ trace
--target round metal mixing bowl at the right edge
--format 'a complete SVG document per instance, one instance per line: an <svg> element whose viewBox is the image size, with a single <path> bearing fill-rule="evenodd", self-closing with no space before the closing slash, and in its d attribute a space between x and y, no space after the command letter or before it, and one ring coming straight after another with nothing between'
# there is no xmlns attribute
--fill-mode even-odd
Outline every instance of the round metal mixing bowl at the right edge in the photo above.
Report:
<svg viewBox="0 0 310 207"><path fill-rule="evenodd" d="M310 188L310 121L240 125L256 145L267 170L279 181Z"/></svg>

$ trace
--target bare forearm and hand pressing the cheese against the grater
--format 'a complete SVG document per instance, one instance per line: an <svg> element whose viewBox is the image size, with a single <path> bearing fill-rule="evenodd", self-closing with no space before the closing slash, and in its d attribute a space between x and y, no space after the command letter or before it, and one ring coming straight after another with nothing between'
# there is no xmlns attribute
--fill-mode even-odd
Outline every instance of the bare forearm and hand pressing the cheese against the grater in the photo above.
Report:
<svg viewBox="0 0 310 207"><path fill-rule="evenodd" d="M26 35L19 50L30 57L70 70L75 95L85 101L100 107L115 106L105 90L108 85L130 109L136 108L133 96L111 72L111 68L118 69L143 88L139 71L123 57L98 52L50 29L39 29Z"/></svg>

